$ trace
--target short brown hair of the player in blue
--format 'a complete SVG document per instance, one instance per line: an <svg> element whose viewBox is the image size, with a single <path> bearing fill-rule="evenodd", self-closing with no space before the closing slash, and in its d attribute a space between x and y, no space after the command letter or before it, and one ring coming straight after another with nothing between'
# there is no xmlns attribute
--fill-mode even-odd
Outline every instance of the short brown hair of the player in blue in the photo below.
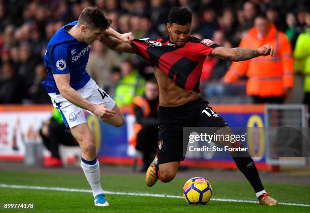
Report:
<svg viewBox="0 0 310 213"><path fill-rule="evenodd" d="M91 29L107 29L112 25L112 20L108 19L97 7L85 8L80 17L79 23Z"/></svg>

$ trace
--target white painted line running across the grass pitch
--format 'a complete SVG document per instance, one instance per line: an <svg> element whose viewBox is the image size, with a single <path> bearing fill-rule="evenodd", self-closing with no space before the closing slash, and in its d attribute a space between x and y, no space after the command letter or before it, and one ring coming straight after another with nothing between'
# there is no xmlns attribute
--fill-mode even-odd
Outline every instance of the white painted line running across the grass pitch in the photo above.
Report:
<svg viewBox="0 0 310 213"><path fill-rule="evenodd" d="M38 190L51 190L51 191L63 191L63 192L87 192L92 193L92 190L89 189L70 189L70 188L60 188L60 187L42 187L42 186L20 186L20 185L8 185L0 184L1 188L14 188L14 189L38 189ZM183 198L183 196L177 195L165 195L165 194L150 194L150 193L135 193L135 192L112 192L104 191L105 194L114 194L114 195L129 195L129 196L141 196L141 197L167 197L167 198ZM237 200L237 199L221 199L221 198L211 198L214 201L222 202L242 202L242 203L258 203L254 200ZM303 203L283 203L281 205L291 205L291 206L304 206L310 207L310 204Z"/></svg>

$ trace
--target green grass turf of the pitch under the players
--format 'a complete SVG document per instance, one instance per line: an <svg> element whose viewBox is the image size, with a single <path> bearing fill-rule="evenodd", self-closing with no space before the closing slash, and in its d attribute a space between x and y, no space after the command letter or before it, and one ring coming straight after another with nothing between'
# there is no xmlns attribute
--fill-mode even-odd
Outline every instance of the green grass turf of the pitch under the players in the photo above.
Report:
<svg viewBox="0 0 310 213"><path fill-rule="evenodd" d="M115 192L142 192L181 195L185 179L171 183L145 186L142 176L101 177L104 190ZM81 174L52 174L26 172L0 172L0 184L90 189ZM212 181L213 198L255 200L253 189L247 182ZM266 190L280 202L310 204L310 186L265 183ZM91 193L61 192L33 189L0 188L0 202L34 202L35 212L309 212L310 207L260 206L255 203L210 201L207 205L188 205L178 198L154 198L127 195L106 195L110 206L93 205ZM9 212L9 211L8 211ZM21 212L21 211L19 211ZM30 211L28 211L30 212Z"/></svg>

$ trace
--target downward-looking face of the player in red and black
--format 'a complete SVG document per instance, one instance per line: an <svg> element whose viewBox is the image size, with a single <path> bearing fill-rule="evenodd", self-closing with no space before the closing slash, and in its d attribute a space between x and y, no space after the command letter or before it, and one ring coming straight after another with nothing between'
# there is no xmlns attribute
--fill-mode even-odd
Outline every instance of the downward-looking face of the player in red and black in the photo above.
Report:
<svg viewBox="0 0 310 213"><path fill-rule="evenodd" d="M167 24L167 28L170 34L170 40L177 46L184 46L190 33L191 24L179 25L176 23Z"/></svg>

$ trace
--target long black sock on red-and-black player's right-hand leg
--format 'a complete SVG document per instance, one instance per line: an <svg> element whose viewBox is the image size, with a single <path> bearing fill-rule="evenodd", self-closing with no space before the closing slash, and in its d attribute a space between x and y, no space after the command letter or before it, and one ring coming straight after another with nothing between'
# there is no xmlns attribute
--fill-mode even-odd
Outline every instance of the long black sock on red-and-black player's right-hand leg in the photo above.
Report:
<svg viewBox="0 0 310 213"><path fill-rule="evenodd" d="M243 147L242 145L240 147ZM253 159L248 152L232 152L232 158L234 158L237 167L240 172L248 179L252 185L255 193L264 190L260 181L257 168Z"/></svg>

